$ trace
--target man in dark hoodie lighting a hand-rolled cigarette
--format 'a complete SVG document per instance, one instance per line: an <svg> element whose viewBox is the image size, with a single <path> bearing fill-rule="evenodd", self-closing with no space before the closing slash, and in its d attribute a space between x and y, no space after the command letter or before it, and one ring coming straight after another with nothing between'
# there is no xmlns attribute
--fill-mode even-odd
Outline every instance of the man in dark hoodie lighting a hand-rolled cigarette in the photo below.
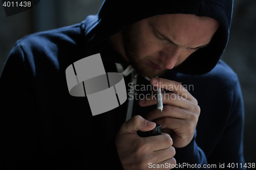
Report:
<svg viewBox="0 0 256 170"><path fill-rule="evenodd" d="M242 94L220 60L231 15L232 1L105 1L77 25L17 41L0 79L1 166L243 169ZM92 116L86 98L69 94L66 68L97 53L106 72L125 72L127 95L137 87L132 108L127 100ZM167 90L162 112L140 88L152 86ZM162 135L137 134L156 124Z"/></svg>

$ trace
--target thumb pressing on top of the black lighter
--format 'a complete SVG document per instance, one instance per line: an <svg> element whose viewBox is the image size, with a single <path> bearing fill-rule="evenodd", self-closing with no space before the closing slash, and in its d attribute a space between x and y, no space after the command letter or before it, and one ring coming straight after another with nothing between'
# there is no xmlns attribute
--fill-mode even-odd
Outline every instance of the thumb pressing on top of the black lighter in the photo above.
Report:
<svg viewBox="0 0 256 170"><path fill-rule="evenodd" d="M139 130L146 132L154 129L155 127L156 123L150 122L140 115L136 115L122 125L121 132L137 134L137 131Z"/></svg>

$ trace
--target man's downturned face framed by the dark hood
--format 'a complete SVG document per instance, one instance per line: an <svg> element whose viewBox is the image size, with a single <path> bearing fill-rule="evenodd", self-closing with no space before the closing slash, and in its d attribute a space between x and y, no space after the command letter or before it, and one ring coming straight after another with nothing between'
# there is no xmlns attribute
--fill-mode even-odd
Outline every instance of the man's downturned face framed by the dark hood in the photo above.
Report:
<svg viewBox="0 0 256 170"><path fill-rule="evenodd" d="M218 28L217 20L190 14L146 18L122 31L124 58L141 76L160 76L206 46Z"/></svg>

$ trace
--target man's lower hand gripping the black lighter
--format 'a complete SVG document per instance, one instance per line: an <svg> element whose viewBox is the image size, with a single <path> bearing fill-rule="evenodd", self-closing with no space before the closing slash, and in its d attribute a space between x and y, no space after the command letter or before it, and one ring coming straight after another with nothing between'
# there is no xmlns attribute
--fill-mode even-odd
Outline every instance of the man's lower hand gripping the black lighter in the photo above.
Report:
<svg viewBox="0 0 256 170"><path fill-rule="evenodd" d="M124 170L155 169L154 165L162 165L160 169L171 169L176 164L175 149L170 135L140 137L137 131L150 131L156 124L137 115L123 123L116 135L116 149ZM166 167L168 165L168 167ZM173 165L173 167L174 167ZM152 168L150 168L153 166ZM161 166L160 166L161 167Z"/></svg>

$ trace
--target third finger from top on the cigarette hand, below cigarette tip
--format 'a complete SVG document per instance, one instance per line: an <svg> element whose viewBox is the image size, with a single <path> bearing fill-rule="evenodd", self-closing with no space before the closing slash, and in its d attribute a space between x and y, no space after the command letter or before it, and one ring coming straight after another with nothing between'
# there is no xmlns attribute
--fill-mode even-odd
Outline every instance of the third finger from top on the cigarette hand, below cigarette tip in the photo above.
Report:
<svg viewBox="0 0 256 170"><path fill-rule="evenodd" d="M155 109L149 112L148 114L146 114L144 118L150 121L153 121L158 118L163 118L163 117L189 119L190 114L193 114L193 113L190 113L187 110L184 110L178 107L165 105L163 107L162 112L159 109Z"/></svg>

